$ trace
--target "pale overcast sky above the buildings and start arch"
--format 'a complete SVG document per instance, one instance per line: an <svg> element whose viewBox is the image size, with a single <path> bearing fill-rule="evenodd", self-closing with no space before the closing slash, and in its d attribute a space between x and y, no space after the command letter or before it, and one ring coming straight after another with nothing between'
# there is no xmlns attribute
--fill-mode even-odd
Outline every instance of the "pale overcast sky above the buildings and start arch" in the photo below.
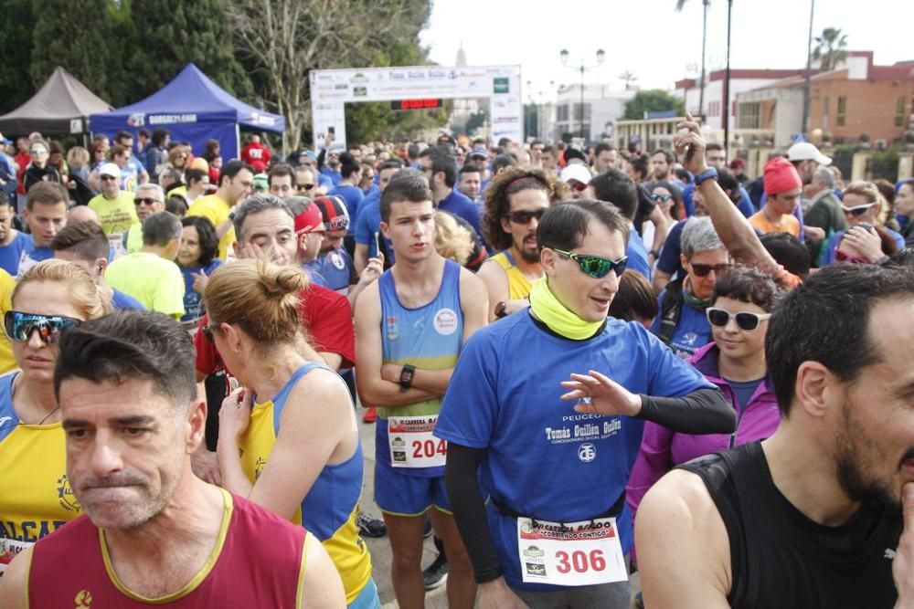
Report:
<svg viewBox="0 0 914 609"><path fill-rule="evenodd" d="M470 65L519 64L521 77L552 99L549 82L579 82L581 59L596 64L588 82L610 82L631 70L642 88L672 89L701 58L701 0L682 13L675 0L432 0L429 26L421 34L436 63L450 66L461 44ZM802 68L806 63L810 0L733 0L731 68ZM568 25L562 25L568 24ZM914 2L910 0L815 0L813 37L840 27L850 50L873 50L877 64L914 60ZM814 43L813 43L814 44ZM564 68L558 53L568 48ZM727 2L711 0L707 22L707 68L723 68L727 49Z"/></svg>

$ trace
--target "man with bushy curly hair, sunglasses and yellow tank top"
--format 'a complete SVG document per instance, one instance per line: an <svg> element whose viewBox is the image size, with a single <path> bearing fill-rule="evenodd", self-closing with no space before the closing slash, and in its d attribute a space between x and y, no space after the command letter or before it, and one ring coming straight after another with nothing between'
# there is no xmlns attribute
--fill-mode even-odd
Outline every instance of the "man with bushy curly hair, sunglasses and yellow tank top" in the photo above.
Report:
<svg viewBox="0 0 914 609"><path fill-rule="evenodd" d="M509 167L498 173L485 193L486 238L499 253L486 260L477 276L489 294L489 321L529 305L539 267L537 226L549 205L560 198L561 184L541 170Z"/></svg>

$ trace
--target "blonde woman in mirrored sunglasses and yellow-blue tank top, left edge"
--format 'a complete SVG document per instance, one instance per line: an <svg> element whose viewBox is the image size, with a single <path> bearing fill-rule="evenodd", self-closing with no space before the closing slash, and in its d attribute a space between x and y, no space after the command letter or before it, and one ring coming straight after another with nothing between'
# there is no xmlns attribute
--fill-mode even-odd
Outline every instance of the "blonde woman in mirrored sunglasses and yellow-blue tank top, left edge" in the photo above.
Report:
<svg viewBox="0 0 914 609"><path fill-rule="evenodd" d="M112 310L89 273L63 260L28 269L12 305L4 329L19 370L0 376L0 556L26 549L82 511L67 479L54 364L64 332Z"/></svg>

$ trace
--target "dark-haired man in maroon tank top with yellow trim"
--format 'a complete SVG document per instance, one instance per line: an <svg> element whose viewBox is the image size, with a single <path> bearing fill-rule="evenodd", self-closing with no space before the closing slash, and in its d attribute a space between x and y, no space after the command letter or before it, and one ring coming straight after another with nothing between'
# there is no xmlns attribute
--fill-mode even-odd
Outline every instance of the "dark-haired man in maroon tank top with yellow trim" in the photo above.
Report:
<svg viewBox="0 0 914 609"><path fill-rule="evenodd" d="M67 475L86 511L20 553L2 607L345 607L319 541L203 482L194 348L162 314L122 311L59 341Z"/></svg>

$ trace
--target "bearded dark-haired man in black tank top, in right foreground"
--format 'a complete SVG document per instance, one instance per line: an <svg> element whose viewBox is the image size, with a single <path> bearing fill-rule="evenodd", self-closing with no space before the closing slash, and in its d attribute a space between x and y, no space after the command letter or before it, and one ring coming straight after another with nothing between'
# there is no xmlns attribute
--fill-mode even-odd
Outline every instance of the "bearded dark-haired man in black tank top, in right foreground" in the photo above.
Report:
<svg viewBox="0 0 914 609"><path fill-rule="evenodd" d="M900 268L833 265L781 302L765 345L781 425L645 496L647 607L914 606L912 320Z"/></svg>

